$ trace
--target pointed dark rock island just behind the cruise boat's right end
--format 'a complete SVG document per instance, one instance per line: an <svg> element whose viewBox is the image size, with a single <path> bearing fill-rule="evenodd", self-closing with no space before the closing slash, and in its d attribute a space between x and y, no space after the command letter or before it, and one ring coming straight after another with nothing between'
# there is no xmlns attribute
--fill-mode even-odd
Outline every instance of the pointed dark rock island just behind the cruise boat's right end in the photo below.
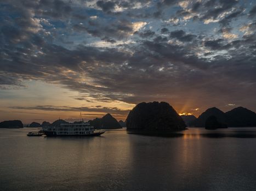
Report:
<svg viewBox="0 0 256 191"><path fill-rule="evenodd" d="M88 121L95 129L118 129L122 128L118 121L110 114L103 116L102 118L95 118Z"/></svg>

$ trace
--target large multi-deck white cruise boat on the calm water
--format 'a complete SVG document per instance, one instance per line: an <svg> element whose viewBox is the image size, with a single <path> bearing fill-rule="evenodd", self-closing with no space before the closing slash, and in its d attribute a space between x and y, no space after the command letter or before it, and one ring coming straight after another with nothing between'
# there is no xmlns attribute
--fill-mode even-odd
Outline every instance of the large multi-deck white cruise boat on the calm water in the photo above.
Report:
<svg viewBox="0 0 256 191"><path fill-rule="evenodd" d="M100 136L105 131L94 132L87 122L61 123L59 127L43 127L46 136Z"/></svg>

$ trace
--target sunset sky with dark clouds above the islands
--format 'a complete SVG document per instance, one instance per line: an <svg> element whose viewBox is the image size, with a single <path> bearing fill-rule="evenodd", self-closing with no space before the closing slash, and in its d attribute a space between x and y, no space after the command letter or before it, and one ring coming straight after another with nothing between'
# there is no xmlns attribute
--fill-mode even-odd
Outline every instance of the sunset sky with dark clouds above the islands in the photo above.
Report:
<svg viewBox="0 0 256 191"><path fill-rule="evenodd" d="M256 111L256 2L2 0L0 121Z"/></svg>

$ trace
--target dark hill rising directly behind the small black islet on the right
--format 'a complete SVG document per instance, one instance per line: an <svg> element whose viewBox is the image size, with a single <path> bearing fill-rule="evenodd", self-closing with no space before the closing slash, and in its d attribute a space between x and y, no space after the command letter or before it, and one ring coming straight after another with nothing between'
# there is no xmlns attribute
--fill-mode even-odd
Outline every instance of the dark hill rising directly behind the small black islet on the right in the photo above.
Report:
<svg viewBox="0 0 256 191"><path fill-rule="evenodd" d="M225 113L218 108L209 108L204 111L193 123L195 127L204 127L206 124L207 118L210 116L217 117L217 120L220 123L226 123L226 116Z"/></svg>

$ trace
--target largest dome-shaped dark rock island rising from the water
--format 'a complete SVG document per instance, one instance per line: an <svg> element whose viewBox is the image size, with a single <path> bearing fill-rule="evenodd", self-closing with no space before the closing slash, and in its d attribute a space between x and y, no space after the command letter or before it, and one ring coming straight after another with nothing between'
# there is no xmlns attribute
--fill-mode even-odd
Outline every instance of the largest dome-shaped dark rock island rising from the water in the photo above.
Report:
<svg viewBox="0 0 256 191"><path fill-rule="evenodd" d="M140 103L127 117L128 131L164 133L185 127L183 119L166 102Z"/></svg>

